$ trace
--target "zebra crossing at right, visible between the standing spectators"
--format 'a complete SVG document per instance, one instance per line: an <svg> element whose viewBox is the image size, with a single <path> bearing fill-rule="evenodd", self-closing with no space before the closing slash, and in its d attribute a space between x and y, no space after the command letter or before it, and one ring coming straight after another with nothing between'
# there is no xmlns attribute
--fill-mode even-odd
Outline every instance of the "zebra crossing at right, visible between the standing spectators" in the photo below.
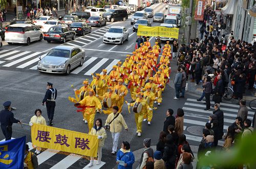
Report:
<svg viewBox="0 0 256 169"><path fill-rule="evenodd" d="M214 102L210 102L211 106L214 106ZM211 111L206 111L204 108L206 105L204 102L198 102L196 99L186 99L186 102L182 109L184 110L184 134L186 139L189 141L199 142L202 139L202 130L195 131L189 130L190 127L202 129L205 124L209 121L209 115L212 114L214 108L211 107ZM248 108L248 119L252 120L254 112ZM221 103L220 108L224 113L224 133L226 133L228 126L235 122L237 117L239 105L233 105L228 103ZM224 140L219 140L219 146L223 146Z"/></svg>

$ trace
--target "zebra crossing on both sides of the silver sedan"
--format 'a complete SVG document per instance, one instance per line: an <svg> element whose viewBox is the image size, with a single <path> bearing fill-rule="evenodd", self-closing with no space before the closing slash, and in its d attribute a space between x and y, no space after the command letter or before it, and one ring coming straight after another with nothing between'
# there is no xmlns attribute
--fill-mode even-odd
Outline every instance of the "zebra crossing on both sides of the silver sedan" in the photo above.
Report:
<svg viewBox="0 0 256 169"><path fill-rule="evenodd" d="M0 51L0 69L11 68L13 69L26 69L37 72L38 56L44 58L47 55L45 52L29 52L29 51ZM113 65L119 62L119 59L86 57L81 67L75 68L71 74L79 74L91 76L92 73L102 74L102 69L107 69L110 73Z"/></svg>

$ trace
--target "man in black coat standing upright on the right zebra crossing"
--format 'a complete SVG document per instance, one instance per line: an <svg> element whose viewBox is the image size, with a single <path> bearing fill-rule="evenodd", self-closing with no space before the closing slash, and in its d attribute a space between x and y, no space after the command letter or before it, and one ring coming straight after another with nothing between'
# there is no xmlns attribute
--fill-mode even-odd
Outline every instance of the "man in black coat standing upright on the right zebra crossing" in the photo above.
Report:
<svg viewBox="0 0 256 169"><path fill-rule="evenodd" d="M218 135L216 135L216 139L214 139L214 144L215 146L218 145L218 140L222 139L222 136L223 136L223 126L224 126L224 113L222 110L220 110L220 104L219 103L216 103L214 105L214 109L215 111L213 111L214 114L217 115L217 118L218 118Z"/></svg>

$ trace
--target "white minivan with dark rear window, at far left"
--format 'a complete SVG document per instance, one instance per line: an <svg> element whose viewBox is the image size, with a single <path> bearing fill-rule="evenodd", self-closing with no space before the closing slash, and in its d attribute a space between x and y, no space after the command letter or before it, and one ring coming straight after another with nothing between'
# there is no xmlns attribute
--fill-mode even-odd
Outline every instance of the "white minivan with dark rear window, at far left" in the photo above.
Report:
<svg viewBox="0 0 256 169"><path fill-rule="evenodd" d="M42 32L34 25L27 23L16 23L10 25L5 32L5 41L8 44L26 43L29 45L33 41L42 41Z"/></svg>

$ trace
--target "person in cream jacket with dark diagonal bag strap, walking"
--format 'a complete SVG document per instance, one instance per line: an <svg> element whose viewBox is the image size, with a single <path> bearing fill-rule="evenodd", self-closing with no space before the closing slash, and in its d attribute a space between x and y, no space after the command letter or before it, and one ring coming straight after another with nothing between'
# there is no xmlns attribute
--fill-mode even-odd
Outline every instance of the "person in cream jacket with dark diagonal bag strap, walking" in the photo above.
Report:
<svg viewBox="0 0 256 169"><path fill-rule="evenodd" d="M111 113L108 118L106 118L105 129L110 130L113 138L113 147L111 154L114 155L117 152L117 144L120 132L122 131L122 126L126 131L128 131L128 127L125 123L125 120L122 114L118 113L118 107L113 106L113 113Z"/></svg>

